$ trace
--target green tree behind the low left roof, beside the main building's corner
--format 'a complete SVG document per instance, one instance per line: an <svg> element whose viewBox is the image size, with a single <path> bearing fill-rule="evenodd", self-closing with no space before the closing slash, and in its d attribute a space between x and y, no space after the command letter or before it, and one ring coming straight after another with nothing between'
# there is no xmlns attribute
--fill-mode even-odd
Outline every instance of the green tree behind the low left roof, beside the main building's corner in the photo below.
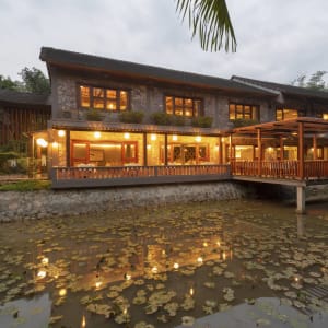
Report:
<svg viewBox="0 0 328 328"><path fill-rule="evenodd" d="M23 68L19 73L23 80L24 91L31 93L50 93L49 79L37 68Z"/></svg>

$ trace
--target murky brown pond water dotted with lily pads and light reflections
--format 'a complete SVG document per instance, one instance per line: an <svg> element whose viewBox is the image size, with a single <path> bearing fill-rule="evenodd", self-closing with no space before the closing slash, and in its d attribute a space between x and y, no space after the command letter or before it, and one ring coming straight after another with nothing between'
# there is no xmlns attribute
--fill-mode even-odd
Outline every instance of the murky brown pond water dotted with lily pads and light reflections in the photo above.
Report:
<svg viewBox="0 0 328 328"><path fill-rule="evenodd" d="M328 326L326 202L7 223L0 259L0 327Z"/></svg>

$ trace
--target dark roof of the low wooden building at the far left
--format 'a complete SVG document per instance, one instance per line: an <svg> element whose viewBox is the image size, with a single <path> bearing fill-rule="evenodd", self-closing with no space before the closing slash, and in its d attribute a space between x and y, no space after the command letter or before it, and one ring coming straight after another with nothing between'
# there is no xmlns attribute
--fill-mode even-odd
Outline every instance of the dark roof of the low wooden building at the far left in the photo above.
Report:
<svg viewBox="0 0 328 328"><path fill-rule="evenodd" d="M15 105L50 106L49 94L35 94L0 89L0 103Z"/></svg>

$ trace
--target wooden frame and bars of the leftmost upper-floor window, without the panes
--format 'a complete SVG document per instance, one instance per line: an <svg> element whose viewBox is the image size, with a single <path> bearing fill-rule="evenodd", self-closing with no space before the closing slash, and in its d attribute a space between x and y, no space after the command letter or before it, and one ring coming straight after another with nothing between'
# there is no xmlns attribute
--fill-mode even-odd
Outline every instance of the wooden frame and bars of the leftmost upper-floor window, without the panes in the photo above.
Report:
<svg viewBox="0 0 328 328"><path fill-rule="evenodd" d="M83 106L82 105L82 93L81 93L81 87L89 87L89 103L90 106ZM94 99L98 98L96 96L94 96L94 89L101 89L103 91L104 96L102 97L104 101L104 107L103 108L96 108L94 106ZM107 91L115 91L116 93L116 97L107 97ZM127 106L126 108L121 108L121 95L120 93L125 92L127 95ZM131 103L130 103L130 90L127 89L118 89L118 87L104 87L104 86L97 86L97 85L90 85L90 84L83 84L83 83L79 83L78 85L78 102L79 102L79 107L80 108L85 108L85 109L96 109L96 110L106 110L106 112L127 112L131 109ZM116 108L115 109L110 109L107 108L107 103L109 104L110 102L116 102Z"/></svg>

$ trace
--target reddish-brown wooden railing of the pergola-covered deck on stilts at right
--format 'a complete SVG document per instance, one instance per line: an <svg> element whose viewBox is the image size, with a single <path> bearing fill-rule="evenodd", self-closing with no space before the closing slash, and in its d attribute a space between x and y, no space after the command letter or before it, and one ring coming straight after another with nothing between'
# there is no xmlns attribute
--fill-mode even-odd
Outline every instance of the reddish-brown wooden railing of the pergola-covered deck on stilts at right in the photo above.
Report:
<svg viewBox="0 0 328 328"><path fill-rule="evenodd" d="M233 175L260 176L282 179L296 178L328 178L328 161L305 161L304 176L301 177L298 161L233 161L231 165Z"/></svg>

